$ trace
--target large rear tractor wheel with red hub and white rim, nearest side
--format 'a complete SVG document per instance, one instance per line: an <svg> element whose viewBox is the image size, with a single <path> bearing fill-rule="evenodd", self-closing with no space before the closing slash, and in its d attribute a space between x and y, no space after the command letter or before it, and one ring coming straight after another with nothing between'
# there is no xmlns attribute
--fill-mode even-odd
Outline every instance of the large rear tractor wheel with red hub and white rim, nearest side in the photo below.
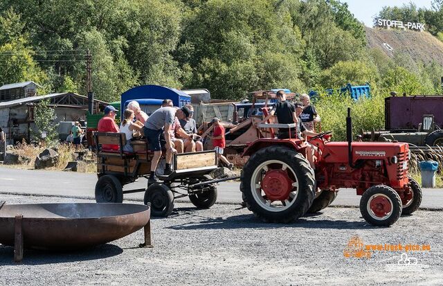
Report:
<svg viewBox="0 0 443 286"><path fill-rule="evenodd" d="M315 195L314 170L302 154L284 146L258 150L244 165L243 202L264 222L287 223L305 215Z"/></svg>

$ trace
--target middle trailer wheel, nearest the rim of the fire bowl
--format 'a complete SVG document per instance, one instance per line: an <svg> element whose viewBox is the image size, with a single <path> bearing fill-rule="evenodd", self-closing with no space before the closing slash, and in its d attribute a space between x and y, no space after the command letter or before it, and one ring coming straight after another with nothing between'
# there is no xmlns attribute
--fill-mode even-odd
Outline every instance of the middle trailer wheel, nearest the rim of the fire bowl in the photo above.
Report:
<svg viewBox="0 0 443 286"><path fill-rule="evenodd" d="M145 192L145 204L147 203L151 203L153 217L167 217L174 209L174 194L164 184L152 184Z"/></svg>

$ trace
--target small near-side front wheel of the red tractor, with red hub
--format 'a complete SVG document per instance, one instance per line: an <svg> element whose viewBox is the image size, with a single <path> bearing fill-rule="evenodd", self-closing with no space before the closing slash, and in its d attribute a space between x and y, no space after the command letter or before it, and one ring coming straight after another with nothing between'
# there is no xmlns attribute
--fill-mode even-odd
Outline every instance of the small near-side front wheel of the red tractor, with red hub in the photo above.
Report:
<svg viewBox="0 0 443 286"><path fill-rule="evenodd" d="M373 226L390 226L401 215L400 196L388 186L372 186L361 196L360 212Z"/></svg>

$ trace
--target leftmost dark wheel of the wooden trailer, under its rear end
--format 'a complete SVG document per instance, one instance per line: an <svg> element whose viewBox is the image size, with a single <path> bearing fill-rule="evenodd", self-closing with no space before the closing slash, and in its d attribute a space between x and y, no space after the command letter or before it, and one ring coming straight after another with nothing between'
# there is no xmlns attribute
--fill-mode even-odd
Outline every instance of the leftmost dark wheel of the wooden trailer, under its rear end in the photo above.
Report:
<svg viewBox="0 0 443 286"><path fill-rule="evenodd" d="M96 202L121 203L123 202L123 187L113 175L104 175L98 178L96 184Z"/></svg>

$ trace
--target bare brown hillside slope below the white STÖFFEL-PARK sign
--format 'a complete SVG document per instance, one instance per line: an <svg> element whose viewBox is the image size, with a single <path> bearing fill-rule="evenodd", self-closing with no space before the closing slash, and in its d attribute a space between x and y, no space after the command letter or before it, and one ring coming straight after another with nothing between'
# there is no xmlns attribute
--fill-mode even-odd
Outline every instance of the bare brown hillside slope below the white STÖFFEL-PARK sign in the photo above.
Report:
<svg viewBox="0 0 443 286"><path fill-rule="evenodd" d="M389 57L394 53L408 53L413 60L438 62L443 65L443 42L428 32L365 27L370 48L380 48ZM383 44L388 44L389 51Z"/></svg>

